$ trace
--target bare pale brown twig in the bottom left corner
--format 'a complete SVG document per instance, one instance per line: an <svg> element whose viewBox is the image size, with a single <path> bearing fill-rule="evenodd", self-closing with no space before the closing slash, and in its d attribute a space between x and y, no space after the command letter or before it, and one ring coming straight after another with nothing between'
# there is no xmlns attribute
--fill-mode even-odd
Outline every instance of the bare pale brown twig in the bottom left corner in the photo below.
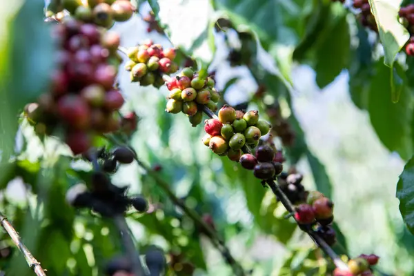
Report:
<svg viewBox="0 0 414 276"><path fill-rule="evenodd" d="M34 259L32 253L28 250L28 248L21 242L21 237L16 230L14 230L12 224L8 221L8 219L0 212L0 224L3 226L4 230L8 233L8 235L12 238L14 244L19 248L21 253L23 253L26 262L28 263L29 267L34 271L37 276L46 276L45 271L41 268L40 263L37 262L37 259Z"/></svg>

